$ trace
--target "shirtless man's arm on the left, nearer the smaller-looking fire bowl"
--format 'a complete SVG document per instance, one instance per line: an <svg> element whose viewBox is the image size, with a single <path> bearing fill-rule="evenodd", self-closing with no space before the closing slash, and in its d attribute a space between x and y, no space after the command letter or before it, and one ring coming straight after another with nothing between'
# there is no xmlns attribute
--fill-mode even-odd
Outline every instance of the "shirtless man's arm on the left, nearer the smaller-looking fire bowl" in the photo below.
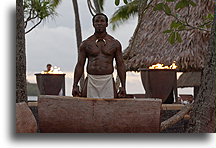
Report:
<svg viewBox="0 0 216 148"><path fill-rule="evenodd" d="M81 43L79 47L78 61L77 61L75 71L74 71L74 82L73 82L73 87L72 87L73 96L80 96L78 82L84 72L85 60L86 60L85 47L83 43Z"/></svg>

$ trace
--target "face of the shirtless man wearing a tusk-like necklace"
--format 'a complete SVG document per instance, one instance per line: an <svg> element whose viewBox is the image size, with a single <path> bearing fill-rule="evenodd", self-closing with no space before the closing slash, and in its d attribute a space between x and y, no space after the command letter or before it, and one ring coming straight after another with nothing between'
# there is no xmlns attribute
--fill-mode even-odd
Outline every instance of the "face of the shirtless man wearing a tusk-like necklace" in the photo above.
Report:
<svg viewBox="0 0 216 148"><path fill-rule="evenodd" d="M106 18L103 15L97 15L94 18L93 26L95 28L95 32L102 33L106 31L106 27L108 26L106 22Z"/></svg>

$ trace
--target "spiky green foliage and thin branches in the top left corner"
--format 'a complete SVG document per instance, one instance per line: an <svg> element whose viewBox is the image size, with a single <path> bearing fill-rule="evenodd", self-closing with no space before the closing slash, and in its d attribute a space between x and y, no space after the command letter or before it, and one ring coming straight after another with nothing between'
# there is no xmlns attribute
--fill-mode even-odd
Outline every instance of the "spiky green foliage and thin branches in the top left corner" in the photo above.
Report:
<svg viewBox="0 0 216 148"><path fill-rule="evenodd" d="M59 3L60 0L24 0L24 27L27 29L29 22L33 24L31 27L28 27L30 29L26 33L38 26L42 20L57 15L55 9Z"/></svg>

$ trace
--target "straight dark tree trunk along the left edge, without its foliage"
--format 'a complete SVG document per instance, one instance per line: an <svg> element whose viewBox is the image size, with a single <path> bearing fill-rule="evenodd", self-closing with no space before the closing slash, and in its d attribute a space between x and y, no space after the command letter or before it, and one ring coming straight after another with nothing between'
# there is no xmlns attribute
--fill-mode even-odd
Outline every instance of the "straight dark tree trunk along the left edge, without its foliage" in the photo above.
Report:
<svg viewBox="0 0 216 148"><path fill-rule="evenodd" d="M16 0L16 102L27 102L23 0Z"/></svg>

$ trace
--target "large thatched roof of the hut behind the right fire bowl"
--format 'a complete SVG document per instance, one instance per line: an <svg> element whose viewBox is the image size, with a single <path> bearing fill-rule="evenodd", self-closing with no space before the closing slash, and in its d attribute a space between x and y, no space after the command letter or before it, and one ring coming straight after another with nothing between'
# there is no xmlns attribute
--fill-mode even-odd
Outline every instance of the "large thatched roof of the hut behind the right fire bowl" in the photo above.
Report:
<svg viewBox="0 0 216 148"><path fill-rule="evenodd" d="M212 0L194 1L198 5L190 9L192 19L189 23L192 25L200 24L204 16L213 13ZM178 13L183 15L186 11ZM128 71L137 71L158 62L171 65L173 61L176 61L180 70L203 68L209 33L199 30L182 31L180 34L183 42L171 45L168 42L169 36L163 31L169 29L173 20L173 17L161 11L153 11L153 8L149 8L144 15L139 15L139 23L123 53Z"/></svg>

